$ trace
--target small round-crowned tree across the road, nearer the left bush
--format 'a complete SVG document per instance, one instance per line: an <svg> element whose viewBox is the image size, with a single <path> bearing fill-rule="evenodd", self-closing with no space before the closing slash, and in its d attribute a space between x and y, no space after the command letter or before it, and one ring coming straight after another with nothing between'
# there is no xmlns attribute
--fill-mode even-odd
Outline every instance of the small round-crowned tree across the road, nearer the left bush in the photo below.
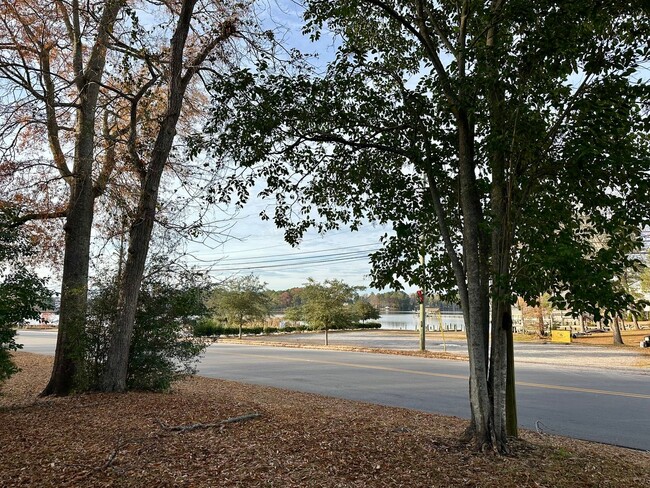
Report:
<svg viewBox="0 0 650 488"><path fill-rule="evenodd" d="M266 283L253 275L234 278L214 291L208 305L229 323L237 324L241 339L245 323L264 319L270 313L271 301L265 287Z"/></svg>

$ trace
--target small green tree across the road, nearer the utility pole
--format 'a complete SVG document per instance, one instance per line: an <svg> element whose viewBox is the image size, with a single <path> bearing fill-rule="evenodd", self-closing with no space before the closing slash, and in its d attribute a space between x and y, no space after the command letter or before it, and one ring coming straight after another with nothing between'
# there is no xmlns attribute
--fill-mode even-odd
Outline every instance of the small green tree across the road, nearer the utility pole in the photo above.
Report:
<svg viewBox="0 0 650 488"><path fill-rule="evenodd" d="M351 304L359 289L340 280L318 283L309 278L302 292L302 316L311 328L325 330L325 345L329 344L330 329L358 319Z"/></svg>

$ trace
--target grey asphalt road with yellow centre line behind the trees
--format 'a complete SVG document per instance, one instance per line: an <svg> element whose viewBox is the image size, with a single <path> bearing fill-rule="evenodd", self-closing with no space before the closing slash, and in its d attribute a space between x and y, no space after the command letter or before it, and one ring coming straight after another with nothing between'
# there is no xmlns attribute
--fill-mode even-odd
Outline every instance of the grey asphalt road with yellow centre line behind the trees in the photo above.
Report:
<svg viewBox="0 0 650 488"><path fill-rule="evenodd" d="M24 350L52 354L55 334L21 332ZM282 347L214 344L203 376L469 417L464 361ZM632 370L517 365L519 424L650 450L650 378Z"/></svg>

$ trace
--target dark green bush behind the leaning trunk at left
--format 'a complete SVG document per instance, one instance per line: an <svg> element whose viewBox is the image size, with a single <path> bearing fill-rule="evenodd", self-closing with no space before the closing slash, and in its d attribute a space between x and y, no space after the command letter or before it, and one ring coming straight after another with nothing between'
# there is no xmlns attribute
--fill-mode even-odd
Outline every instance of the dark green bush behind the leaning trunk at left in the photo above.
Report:
<svg viewBox="0 0 650 488"><path fill-rule="evenodd" d="M191 275L176 283L165 276L143 283L129 351L128 389L166 390L172 381L196 371L206 344L189 332L208 313L204 291ZM91 389L104 373L116 309L114 284L101 286L89 301L85 351Z"/></svg>

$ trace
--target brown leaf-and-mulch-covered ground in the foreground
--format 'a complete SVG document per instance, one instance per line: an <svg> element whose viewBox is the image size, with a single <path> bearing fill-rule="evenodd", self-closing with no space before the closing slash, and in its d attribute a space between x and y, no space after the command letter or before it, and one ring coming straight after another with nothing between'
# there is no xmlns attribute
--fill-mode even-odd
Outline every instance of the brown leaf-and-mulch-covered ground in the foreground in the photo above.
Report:
<svg viewBox="0 0 650 488"><path fill-rule="evenodd" d="M508 456L476 453L458 418L229 381L37 399L52 359L15 358L3 487L650 487L649 453L533 432Z"/></svg>

